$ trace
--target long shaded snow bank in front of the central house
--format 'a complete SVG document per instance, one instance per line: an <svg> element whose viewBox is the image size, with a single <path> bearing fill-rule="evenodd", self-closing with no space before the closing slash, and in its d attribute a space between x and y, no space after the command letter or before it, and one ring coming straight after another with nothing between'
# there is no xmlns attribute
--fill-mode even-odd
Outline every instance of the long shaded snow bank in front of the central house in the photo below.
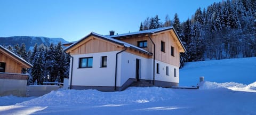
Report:
<svg viewBox="0 0 256 115"><path fill-rule="evenodd" d="M63 106L87 104L147 103L177 99L171 89L161 87L130 87L123 92L100 92L97 90L52 91L33 100L19 103L29 106Z"/></svg>

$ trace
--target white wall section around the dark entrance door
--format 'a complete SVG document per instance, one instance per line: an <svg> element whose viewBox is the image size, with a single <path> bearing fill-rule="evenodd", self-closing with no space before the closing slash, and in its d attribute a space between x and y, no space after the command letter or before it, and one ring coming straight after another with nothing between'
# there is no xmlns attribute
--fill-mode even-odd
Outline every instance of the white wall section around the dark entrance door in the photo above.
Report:
<svg viewBox="0 0 256 115"><path fill-rule="evenodd" d="M135 79L136 59L140 60L140 79L153 79L153 59L122 52L118 54L117 86L122 86L129 78Z"/></svg>

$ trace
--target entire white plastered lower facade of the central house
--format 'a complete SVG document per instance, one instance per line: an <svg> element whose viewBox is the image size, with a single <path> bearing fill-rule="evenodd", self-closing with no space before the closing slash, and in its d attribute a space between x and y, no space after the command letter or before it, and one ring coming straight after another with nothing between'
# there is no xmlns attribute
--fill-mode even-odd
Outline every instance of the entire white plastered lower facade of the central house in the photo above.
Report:
<svg viewBox="0 0 256 115"><path fill-rule="evenodd" d="M116 53L118 52L119 51L72 55L74 58L72 85L114 87ZM101 67L102 56L107 56L106 68ZM93 57L92 68L79 68L79 59L83 57ZM137 59L140 60L139 79L153 80L153 59L147 59L131 53L122 52L118 54L117 87L121 87L129 78L136 79ZM157 63L159 63L159 73L157 73ZM166 67L169 67L169 75L166 75ZM174 77L174 68L176 69L176 77ZM69 75L69 85L70 78L71 74ZM179 68L174 65L155 60L155 80L179 83Z"/></svg>

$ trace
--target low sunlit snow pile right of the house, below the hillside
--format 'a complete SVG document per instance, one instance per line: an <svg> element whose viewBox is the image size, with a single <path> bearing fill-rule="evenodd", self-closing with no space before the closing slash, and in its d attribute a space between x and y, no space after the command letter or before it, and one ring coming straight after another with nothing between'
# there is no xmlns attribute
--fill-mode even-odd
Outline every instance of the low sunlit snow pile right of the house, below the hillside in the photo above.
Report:
<svg viewBox="0 0 256 115"><path fill-rule="evenodd" d="M199 89L219 89L219 88L230 88L230 87L246 87L244 84L239 83L215 83L210 81L203 81L199 84Z"/></svg>

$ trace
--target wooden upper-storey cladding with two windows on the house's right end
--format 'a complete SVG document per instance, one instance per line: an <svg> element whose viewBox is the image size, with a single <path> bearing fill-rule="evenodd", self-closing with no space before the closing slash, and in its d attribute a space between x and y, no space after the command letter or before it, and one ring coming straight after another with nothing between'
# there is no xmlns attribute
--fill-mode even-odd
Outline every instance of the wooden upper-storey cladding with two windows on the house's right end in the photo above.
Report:
<svg viewBox="0 0 256 115"><path fill-rule="evenodd" d="M156 60L180 66L180 50L175 38L171 32L165 31L153 35L153 41L156 44ZM165 43L165 52L161 51L161 41ZM171 55L171 47L174 47L174 56Z"/></svg>

